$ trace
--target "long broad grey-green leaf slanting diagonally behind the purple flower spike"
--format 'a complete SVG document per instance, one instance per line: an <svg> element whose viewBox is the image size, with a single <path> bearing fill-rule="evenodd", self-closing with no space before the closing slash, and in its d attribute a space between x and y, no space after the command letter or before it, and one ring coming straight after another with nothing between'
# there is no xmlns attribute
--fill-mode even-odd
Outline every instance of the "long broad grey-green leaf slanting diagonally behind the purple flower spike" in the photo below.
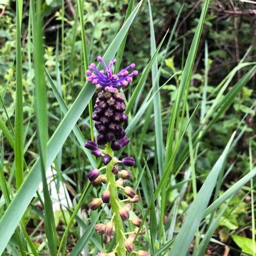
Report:
<svg viewBox="0 0 256 256"><path fill-rule="evenodd" d="M111 61L111 59L116 54L116 51L122 43L126 32L131 26L131 23L134 20L134 17L138 12L141 3L142 2L140 2L136 6L134 11L128 17L128 19L114 38L108 50L105 52L105 55L103 57L106 62ZM48 168L52 164L62 145L66 141L68 135L70 134L70 132L76 125L79 117L88 105L88 102L93 96L94 92L95 87L91 84L86 84L77 96L70 110L67 112L61 123L58 125L58 128L55 130L51 139L47 143L46 168ZM12 234L14 233L17 224L19 223L21 217L26 211L26 208L28 207L31 199L35 196L35 192L38 188L39 183L41 182L40 170L40 161L37 160L32 169L30 170L29 175L26 177L26 180L23 182L22 186L17 192L16 197L14 198L14 200L12 201L12 203L0 220L0 237L2 239L0 243L0 254L3 253L3 250L5 249L10 238L12 237Z"/></svg>

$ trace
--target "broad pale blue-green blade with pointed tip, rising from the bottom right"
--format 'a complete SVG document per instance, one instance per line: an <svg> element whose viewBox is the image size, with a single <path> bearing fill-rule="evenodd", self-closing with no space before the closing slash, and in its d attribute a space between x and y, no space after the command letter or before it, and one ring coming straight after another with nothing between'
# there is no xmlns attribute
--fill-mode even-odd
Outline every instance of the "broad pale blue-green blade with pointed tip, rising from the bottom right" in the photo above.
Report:
<svg viewBox="0 0 256 256"><path fill-rule="evenodd" d="M218 178L219 171L225 163L227 153L230 149L230 145L233 141L234 136L235 133L233 133L223 153L218 158L215 165L212 167L212 170L209 172L209 175L207 176L203 186L199 190L195 201L193 201L192 205L189 207L189 211L186 215L186 218L174 241L172 250L169 253L170 256L186 255L187 250L189 249L189 245L204 215L204 210L206 209L207 204L209 203L212 191L215 187L215 183Z"/></svg>

